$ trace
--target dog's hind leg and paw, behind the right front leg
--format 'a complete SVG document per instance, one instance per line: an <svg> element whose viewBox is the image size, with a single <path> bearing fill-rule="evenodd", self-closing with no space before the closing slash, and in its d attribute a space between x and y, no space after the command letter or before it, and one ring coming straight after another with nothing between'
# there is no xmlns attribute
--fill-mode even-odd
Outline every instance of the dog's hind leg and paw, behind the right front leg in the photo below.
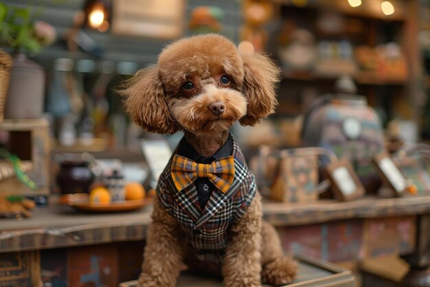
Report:
<svg viewBox="0 0 430 287"><path fill-rule="evenodd" d="M278 232L263 221L262 237L262 279L273 286L291 283L297 273L297 264L291 257L284 257Z"/></svg>

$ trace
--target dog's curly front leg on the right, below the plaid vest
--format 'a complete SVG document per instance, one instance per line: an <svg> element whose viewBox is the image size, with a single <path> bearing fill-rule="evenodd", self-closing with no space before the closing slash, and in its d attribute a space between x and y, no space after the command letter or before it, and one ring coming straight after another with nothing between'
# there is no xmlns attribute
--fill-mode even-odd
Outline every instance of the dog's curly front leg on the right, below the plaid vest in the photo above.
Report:
<svg viewBox="0 0 430 287"><path fill-rule="evenodd" d="M231 241L223 262L227 287L261 286L261 198L256 194L247 213L231 227Z"/></svg>

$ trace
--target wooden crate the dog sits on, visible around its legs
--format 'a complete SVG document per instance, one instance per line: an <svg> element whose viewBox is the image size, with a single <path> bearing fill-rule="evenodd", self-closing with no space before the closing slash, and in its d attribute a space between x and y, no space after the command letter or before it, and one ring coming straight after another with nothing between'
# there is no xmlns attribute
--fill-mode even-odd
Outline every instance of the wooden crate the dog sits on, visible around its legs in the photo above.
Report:
<svg viewBox="0 0 430 287"><path fill-rule="evenodd" d="M297 257L299 273L293 283L288 287L354 287L355 279L351 271L324 262L313 257ZM122 282L120 287L135 287L137 280ZM196 275L182 274L179 277L177 287L223 287L221 279L198 277Z"/></svg>

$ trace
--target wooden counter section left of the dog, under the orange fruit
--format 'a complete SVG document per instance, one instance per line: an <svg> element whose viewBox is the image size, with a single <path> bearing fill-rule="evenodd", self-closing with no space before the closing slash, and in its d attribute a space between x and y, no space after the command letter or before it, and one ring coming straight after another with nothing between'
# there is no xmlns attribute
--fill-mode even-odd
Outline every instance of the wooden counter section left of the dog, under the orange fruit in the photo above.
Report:
<svg viewBox="0 0 430 287"><path fill-rule="evenodd" d="M0 221L0 253L143 240L151 207L123 213L36 208L32 218Z"/></svg>

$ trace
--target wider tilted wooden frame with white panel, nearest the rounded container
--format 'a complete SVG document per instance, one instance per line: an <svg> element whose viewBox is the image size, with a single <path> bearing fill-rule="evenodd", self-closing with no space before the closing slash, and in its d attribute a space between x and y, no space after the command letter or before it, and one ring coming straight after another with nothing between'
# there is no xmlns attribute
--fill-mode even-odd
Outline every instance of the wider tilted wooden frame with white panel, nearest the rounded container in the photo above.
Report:
<svg viewBox="0 0 430 287"><path fill-rule="evenodd" d="M330 163L325 170L335 198L350 201L364 196L365 189L349 161L342 159Z"/></svg>

